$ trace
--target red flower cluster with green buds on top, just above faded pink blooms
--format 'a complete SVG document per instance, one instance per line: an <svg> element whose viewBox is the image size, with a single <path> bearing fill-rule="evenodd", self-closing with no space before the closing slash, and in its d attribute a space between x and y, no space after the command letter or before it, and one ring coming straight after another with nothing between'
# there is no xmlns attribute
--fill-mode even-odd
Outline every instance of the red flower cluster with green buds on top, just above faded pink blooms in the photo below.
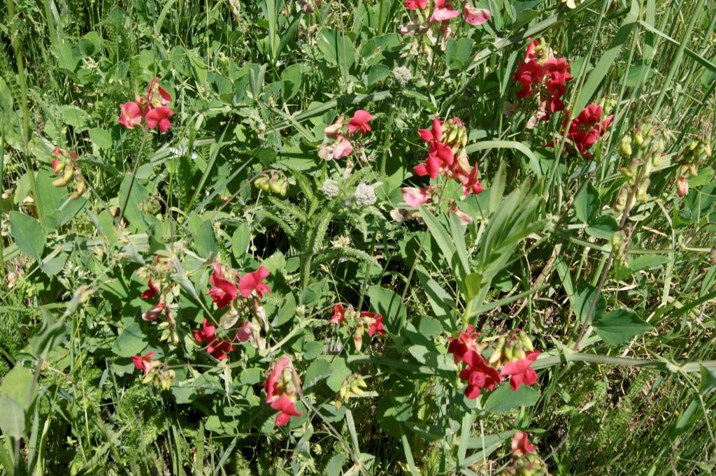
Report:
<svg viewBox="0 0 716 476"><path fill-rule="evenodd" d="M435 117L431 129L418 131L420 138L428 143L428 154L425 162L415 166L419 177L429 175L435 180L438 175L445 175L463 185L465 196L470 193L483 192L483 184L478 180L478 165L470 167L468 152L468 130L463 121L457 117L444 122Z"/></svg>

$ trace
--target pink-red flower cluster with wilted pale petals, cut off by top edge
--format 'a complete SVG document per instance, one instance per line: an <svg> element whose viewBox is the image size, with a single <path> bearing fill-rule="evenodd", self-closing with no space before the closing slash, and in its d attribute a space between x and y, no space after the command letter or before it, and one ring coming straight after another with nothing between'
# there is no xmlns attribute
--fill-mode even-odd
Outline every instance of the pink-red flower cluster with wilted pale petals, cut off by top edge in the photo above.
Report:
<svg viewBox="0 0 716 476"><path fill-rule="evenodd" d="M440 48L445 50L448 38L455 36L450 21L460 16L460 10L453 6L451 0L433 0L432 8L427 0L405 0L405 8L412 11L410 21L400 27L402 34L416 37L413 44L413 54L418 54L417 37L427 37L430 44L436 44L440 38ZM481 25L490 19L488 9L478 9L465 1L462 11L463 19L473 26ZM430 49L424 45L424 51L430 60Z"/></svg>

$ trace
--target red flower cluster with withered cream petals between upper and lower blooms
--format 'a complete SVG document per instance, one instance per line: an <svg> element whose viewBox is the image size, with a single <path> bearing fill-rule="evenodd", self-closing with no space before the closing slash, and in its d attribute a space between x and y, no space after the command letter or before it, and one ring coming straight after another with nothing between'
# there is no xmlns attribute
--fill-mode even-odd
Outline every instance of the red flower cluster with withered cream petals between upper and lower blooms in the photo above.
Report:
<svg viewBox="0 0 716 476"><path fill-rule="evenodd" d="M261 298L263 293L271 291L263 282L267 277L269 277L269 270L263 266L258 266L256 271L241 276L236 271L223 268L218 261L214 263L213 273L209 277L209 284L212 287L206 293L211 296L217 309L228 308L221 317L221 327L229 329L236 325L243 309L248 309L251 319L244 319L238 324L233 339L217 337L216 326L204 319L201 328L194 331L194 339L199 344L206 345L208 354L217 360L226 359L228 353L236 349L234 341L237 340L251 341L263 351L266 341L261 337L260 323L263 324L264 329L268 329L269 321L266 310L261 304Z"/></svg>

